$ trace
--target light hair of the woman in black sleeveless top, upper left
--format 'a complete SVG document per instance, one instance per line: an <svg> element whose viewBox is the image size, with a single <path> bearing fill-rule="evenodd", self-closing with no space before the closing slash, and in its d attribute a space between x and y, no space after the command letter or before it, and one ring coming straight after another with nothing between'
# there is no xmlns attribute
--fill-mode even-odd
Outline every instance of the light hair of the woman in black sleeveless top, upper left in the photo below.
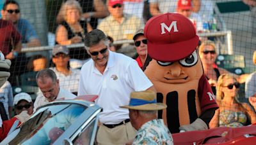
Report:
<svg viewBox="0 0 256 145"><path fill-rule="evenodd" d="M83 14L83 10L79 2L75 0L68 0L61 5L61 8L58 14L60 17L60 21L67 20L67 10L70 7L77 9L79 11L80 17Z"/></svg>

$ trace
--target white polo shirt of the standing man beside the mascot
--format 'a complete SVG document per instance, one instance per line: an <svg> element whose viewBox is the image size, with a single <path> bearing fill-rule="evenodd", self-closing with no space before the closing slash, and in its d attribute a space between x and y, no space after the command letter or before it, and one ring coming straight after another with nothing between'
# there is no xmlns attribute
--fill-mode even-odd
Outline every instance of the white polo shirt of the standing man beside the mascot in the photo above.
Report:
<svg viewBox="0 0 256 145"><path fill-rule="evenodd" d="M99 95L95 103L103 108L99 120L116 124L129 118L129 110L120 108L129 104L130 93L147 90L153 84L130 57L109 51L104 74L95 67L93 60L81 69L78 95Z"/></svg>

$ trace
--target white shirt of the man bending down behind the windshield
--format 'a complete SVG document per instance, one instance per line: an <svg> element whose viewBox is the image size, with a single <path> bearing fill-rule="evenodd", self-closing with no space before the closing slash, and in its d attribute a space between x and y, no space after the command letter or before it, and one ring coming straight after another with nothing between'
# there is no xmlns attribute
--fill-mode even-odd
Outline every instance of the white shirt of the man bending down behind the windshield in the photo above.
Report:
<svg viewBox="0 0 256 145"><path fill-rule="evenodd" d="M40 90L40 89L39 89ZM58 96L56 97L56 100L58 99L74 99L76 98L76 95L73 93L68 92L67 90L60 87L60 92L58 93ZM44 104L47 104L49 101L44 97L43 93L41 91L38 92L38 95L36 97L35 103L34 103L34 112L36 109L40 106L43 106Z"/></svg>

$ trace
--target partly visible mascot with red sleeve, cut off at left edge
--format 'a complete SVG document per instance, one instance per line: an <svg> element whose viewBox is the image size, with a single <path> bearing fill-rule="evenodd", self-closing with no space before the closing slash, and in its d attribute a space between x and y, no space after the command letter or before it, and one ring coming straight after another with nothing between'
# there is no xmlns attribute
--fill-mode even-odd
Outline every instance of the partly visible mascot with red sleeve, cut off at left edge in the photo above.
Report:
<svg viewBox="0 0 256 145"><path fill-rule="evenodd" d="M3 86L5 81L10 76L11 61L8 59L4 59L3 53L0 51L0 87ZM2 141L8 134L10 128L16 120L19 120L19 123L23 123L26 119L29 118L29 114L27 111L22 111L19 115L16 115L10 120L2 121L0 115L0 141Z"/></svg>

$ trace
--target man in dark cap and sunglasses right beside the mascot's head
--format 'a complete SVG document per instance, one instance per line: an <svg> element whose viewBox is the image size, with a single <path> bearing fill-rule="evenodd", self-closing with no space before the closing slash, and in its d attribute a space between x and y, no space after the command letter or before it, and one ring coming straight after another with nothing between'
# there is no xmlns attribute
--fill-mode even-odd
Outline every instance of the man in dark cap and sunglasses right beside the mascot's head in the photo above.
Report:
<svg viewBox="0 0 256 145"><path fill-rule="evenodd" d="M135 60L138 62L138 65L142 69L148 55L147 38L144 36L143 29L139 29L134 34L133 40L134 40L136 52L139 55Z"/></svg>

